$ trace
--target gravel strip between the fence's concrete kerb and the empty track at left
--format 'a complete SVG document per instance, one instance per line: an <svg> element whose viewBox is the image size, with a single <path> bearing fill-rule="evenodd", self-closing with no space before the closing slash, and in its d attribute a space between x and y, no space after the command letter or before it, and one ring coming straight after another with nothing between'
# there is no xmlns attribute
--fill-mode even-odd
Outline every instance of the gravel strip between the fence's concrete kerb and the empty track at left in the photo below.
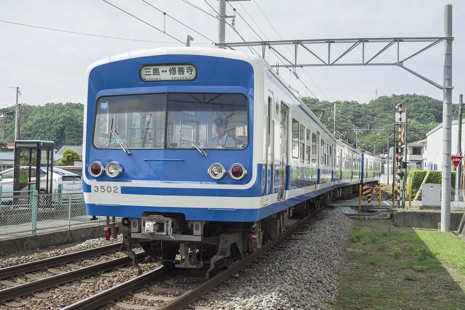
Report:
<svg viewBox="0 0 465 310"><path fill-rule="evenodd" d="M32 253L32 254L25 255L25 256L15 256L15 257L9 257L5 259L0 259L0 268L29 263L29 262L33 262L39 259L73 253L76 251L87 250L87 249L96 248L102 245L112 244L112 243L121 242L121 241L123 241L122 235L119 235L117 240L112 239L111 241L106 241L104 237L96 238L96 239L89 239L80 244L73 245L67 248L60 248L60 249L54 249L51 251L44 251L40 253Z"/></svg>

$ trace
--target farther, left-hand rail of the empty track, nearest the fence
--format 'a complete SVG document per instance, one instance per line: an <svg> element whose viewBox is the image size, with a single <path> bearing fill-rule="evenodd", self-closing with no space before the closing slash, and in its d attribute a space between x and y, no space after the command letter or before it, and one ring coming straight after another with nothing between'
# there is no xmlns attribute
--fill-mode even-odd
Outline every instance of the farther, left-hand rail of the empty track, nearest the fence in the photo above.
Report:
<svg viewBox="0 0 465 310"><path fill-rule="evenodd" d="M81 258L100 255L108 252L118 251L121 248L122 242L99 246L93 249L82 250L74 253L63 254L60 256L44 258L29 263L14 265L10 267L0 268L0 279L13 277L20 273L39 270L46 267L52 267L63 263L72 262Z"/></svg>

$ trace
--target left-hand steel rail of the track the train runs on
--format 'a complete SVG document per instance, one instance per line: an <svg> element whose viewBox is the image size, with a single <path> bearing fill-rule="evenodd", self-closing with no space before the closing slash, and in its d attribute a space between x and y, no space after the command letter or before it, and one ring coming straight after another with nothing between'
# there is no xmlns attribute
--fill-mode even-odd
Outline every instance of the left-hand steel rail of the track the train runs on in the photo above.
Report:
<svg viewBox="0 0 465 310"><path fill-rule="evenodd" d="M91 310L100 308L109 301L124 296L133 290L140 289L145 284L164 276L168 272L168 270L171 269L172 268L164 266L159 267L155 270L146 272L138 277L132 278L131 280L113 286L107 290L103 290L100 293L89 296L78 302L72 303L64 308L61 308L61 310Z"/></svg>

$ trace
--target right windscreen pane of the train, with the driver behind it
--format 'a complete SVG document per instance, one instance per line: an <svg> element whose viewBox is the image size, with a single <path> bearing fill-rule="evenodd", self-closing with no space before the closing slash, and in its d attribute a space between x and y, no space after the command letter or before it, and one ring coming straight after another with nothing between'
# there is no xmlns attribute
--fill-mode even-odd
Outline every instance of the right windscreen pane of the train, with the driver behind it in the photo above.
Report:
<svg viewBox="0 0 465 310"><path fill-rule="evenodd" d="M244 149L247 98L228 93L169 93L166 147Z"/></svg>

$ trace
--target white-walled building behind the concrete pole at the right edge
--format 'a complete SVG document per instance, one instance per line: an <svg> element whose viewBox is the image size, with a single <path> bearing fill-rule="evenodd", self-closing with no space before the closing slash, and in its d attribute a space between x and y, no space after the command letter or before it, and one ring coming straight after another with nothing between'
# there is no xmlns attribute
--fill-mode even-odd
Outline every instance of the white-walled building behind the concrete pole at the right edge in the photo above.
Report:
<svg viewBox="0 0 465 310"><path fill-rule="evenodd" d="M464 127L465 119L462 119L462 153L465 151L464 144ZM458 138L458 120L452 121L452 154L457 155L457 138ZM421 140L424 141L424 140ZM417 141L420 142L420 141ZM432 130L426 133L426 143L423 155L423 169L427 168L428 164L438 165L438 170L442 170L442 124L437 125ZM450 160L450 159L449 159ZM452 165L451 161L448 163ZM452 170L455 167L452 165Z"/></svg>

